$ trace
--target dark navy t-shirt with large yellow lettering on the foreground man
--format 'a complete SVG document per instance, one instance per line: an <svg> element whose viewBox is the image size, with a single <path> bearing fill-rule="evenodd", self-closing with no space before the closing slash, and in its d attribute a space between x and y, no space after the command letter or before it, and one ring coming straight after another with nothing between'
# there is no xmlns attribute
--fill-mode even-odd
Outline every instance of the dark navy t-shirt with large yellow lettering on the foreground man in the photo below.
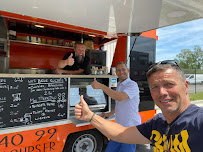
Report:
<svg viewBox="0 0 203 152"><path fill-rule="evenodd" d="M151 120L138 125L140 133L152 142L154 151L163 151L165 139L168 138L170 151L203 151L203 108L191 104L171 124L166 136L168 124L162 113Z"/></svg>

